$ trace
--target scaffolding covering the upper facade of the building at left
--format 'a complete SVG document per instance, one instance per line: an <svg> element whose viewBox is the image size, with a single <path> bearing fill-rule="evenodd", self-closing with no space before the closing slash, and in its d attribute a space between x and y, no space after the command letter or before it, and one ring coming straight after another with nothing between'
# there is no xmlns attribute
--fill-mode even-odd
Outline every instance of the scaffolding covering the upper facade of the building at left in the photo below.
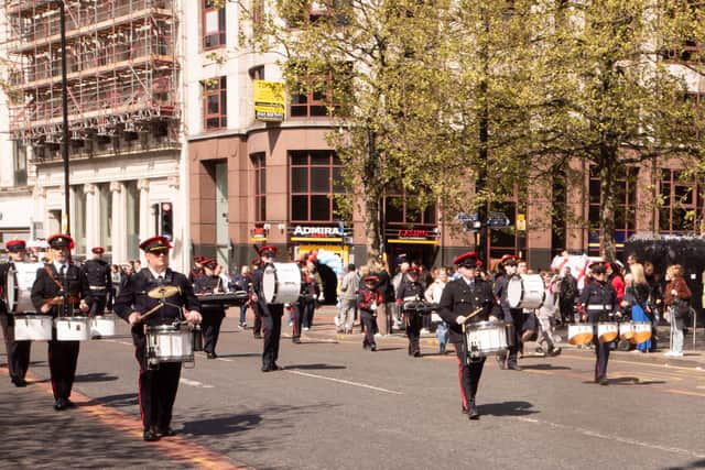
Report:
<svg viewBox="0 0 705 470"><path fill-rule="evenodd" d="M127 132L175 135L180 119L176 0L66 0L72 141ZM10 132L35 146L62 141L56 0L7 0Z"/></svg>

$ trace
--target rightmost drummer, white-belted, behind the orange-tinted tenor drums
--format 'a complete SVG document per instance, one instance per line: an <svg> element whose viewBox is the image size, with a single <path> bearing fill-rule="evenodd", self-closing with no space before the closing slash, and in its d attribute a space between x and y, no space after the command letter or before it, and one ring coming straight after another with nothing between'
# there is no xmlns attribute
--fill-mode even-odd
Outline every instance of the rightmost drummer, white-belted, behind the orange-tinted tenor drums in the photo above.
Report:
<svg viewBox="0 0 705 470"><path fill-rule="evenodd" d="M582 313L583 321L593 324L593 343L595 346L595 383L607 385L607 361L609 360L609 342L600 342L597 335L597 324L599 321L611 320L612 315L620 316L617 302L617 293L609 282L607 282L607 269L603 262L590 264L594 281L588 283L583 289L578 302L578 309Z"/></svg>

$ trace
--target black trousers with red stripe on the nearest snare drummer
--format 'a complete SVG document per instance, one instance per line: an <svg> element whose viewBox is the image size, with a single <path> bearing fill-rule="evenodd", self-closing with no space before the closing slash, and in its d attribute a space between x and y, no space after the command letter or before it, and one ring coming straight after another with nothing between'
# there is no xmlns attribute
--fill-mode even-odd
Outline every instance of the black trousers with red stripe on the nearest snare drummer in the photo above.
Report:
<svg viewBox="0 0 705 470"><path fill-rule="evenodd" d="M172 423L172 411L181 379L181 362L162 362L158 369L147 369L144 337L135 339L135 358L140 364L139 401L144 429L166 429Z"/></svg>

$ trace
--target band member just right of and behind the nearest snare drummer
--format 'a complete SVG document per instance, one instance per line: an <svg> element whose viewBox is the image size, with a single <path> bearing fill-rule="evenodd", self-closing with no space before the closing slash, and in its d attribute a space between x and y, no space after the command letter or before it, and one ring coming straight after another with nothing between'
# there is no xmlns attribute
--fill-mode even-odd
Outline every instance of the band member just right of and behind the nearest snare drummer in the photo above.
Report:
<svg viewBox="0 0 705 470"><path fill-rule="evenodd" d="M198 294L224 293L223 280L216 274L218 263L206 258L202 260L203 274L194 278L194 292ZM208 359L216 359L216 345L220 335L220 325L225 318L225 306L218 303L202 302L200 314L203 316L203 350Z"/></svg>

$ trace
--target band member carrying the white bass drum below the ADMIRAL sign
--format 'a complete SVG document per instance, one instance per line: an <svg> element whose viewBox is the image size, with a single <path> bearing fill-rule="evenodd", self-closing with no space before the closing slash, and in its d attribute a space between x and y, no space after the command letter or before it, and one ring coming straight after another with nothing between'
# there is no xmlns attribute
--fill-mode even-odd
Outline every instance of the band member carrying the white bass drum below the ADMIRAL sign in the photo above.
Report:
<svg viewBox="0 0 705 470"><path fill-rule="evenodd" d="M252 275L252 303L257 304L264 321L264 345L262 349L262 372L280 370L276 364L279 359L279 341L282 336L283 304L270 304L263 295L264 270L273 269L271 264L279 254L276 247L264 245L260 248L260 265Z"/></svg>

